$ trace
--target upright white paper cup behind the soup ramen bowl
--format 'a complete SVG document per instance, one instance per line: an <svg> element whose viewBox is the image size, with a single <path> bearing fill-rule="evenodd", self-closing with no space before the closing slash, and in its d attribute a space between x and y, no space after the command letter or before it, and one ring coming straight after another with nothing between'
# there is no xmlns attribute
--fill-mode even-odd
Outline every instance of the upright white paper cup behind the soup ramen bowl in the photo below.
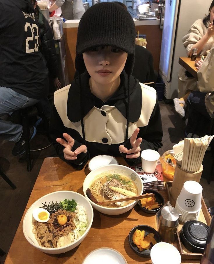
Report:
<svg viewBox="0 0 214 264"><path fill-rule="evenodd" d="M158 163L160 154L155 150L143 150L141 152L142 169L147 173L152 173Z"/></svg>

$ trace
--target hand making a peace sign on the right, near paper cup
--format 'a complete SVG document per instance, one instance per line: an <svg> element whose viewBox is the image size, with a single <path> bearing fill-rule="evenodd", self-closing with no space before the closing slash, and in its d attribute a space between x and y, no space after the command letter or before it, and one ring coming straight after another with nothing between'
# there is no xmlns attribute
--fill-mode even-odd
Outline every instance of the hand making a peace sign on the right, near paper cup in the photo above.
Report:
<svg viewBox="0 0 214 264"><path fill-rule="evenodd" d="M132 134L130 138L130 143L132 148L128 150L124 145L119 146L119 151L120 153L126 153L127 155L125 156L127 159L136 159L140 156L140 144L142 142L142 138L137 139L137 135L139 133L140 129L136 128L134 133Z"/></svg>

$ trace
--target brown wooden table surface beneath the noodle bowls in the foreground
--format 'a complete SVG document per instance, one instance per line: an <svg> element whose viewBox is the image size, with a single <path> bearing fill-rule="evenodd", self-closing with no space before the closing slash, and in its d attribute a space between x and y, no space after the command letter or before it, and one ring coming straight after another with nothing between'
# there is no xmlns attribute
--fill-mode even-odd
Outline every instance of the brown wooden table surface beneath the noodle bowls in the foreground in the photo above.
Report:
<svg viewBox="0 0 214 264"><path fill-rule="evenodd" d="M120 164L126 165L122 158L118 158L118 161ZM66 253L45 254L27 242L22 232L22 223L26 211L33 202L45 194L59 190L71 190L83 194L82 185L88 173L87 165L82 171L76 171L59 158L45 158L5 263L81 264L92 250L110 247L123 254L128 264L138 262L151 264L149 258L137 256L128 243L128 234L136 225L150 225L157 230L155 215L142 212L137 205L127 213L118 216L108 216L94 210L93 224L88 235L79 246ZM160 193L166 202L167 192L161 191ZM185 260L182 263L199 264L199 261Z"/></svg>

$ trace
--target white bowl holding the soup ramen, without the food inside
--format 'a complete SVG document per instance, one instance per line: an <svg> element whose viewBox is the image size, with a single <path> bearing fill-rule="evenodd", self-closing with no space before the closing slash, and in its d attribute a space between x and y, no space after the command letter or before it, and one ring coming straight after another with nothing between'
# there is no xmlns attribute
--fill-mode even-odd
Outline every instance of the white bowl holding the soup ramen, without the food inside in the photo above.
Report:
<svg viewBox="0 0 214 264"><path fill-rule="evenodd" d="M123 165L116 165L116 164L110 164L106 166L102 166L100 168L97 168L93 171L91 171L85 178L83 182L83 192L85 197L89 200L91 205L93 206L94 209L101 213L105 213L107 215L119 215L122 213L128 212L130 209L132 209L135 204L137 204L138 199L134 201L130 201L130 204L122 206L122 207L116 207L116 208L110 208L110 207L105 207L98 205L94 202L92 202L89 197L86 194L87 189L90 189L91 183L93 183L96 179L98 179L100 176L105 176L108 174L119 174L121 176L126 176L132 182L135 184L137 187L137 195L142 194L143 192L143 182L137 172L134 170L130 169L129 167L123 166Z"/></svg>

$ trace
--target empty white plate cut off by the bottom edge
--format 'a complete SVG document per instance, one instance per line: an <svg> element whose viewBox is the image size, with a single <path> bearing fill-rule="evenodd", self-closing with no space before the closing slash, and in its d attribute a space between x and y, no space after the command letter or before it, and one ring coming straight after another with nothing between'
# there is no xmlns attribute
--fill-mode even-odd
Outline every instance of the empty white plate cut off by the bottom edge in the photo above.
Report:
<svg viewBox="0 0 214 264"><path fill-rule="evenodd" d="M111 248L99 248L91 251L82 264L127 264L123 255Z"/></svg>

